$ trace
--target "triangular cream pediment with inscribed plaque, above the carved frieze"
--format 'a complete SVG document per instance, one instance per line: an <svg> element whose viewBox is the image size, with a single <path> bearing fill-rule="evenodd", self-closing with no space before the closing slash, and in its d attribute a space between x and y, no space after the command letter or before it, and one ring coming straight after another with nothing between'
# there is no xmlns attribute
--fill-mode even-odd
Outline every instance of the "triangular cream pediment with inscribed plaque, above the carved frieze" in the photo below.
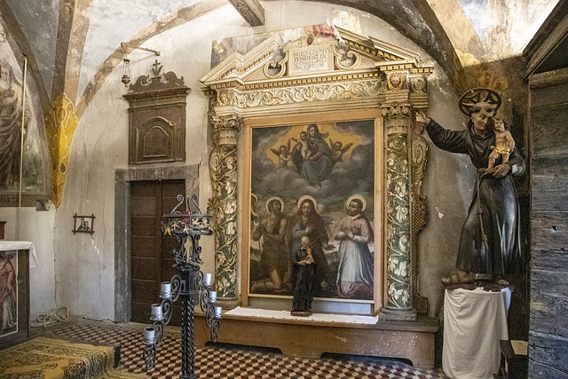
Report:
<svg viewBox="0 0 568 379"><path fill-rule="evenodd" d="M226 87L232 82L233 86L261 82L276 84L314 75L326 77L400 69L431 70L431 65L420 65L419 55L414 51L342 28L335 27L335 30L337 36L308 35L288 43L278 33L273 33L244 55L239 51L233 52L203 76L201 82L212 87Z"/></svg>

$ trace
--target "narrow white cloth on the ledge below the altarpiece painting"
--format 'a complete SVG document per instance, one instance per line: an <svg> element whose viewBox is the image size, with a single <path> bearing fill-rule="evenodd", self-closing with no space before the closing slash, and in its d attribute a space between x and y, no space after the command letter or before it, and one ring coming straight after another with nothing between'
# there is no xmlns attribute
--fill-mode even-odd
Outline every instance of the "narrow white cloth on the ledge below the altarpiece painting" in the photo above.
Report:
<svg viewBox="0 0 568 379"><path fill-rule="evenodd" d="M289 311L272 311L259 308L236 307L225 312L235 316L265 317L269 319L284 320L310 320L323 322L346 322L351 324L376 324L377 316L356 316L349 314L313 313L309 317L292 316Z"/></svg>

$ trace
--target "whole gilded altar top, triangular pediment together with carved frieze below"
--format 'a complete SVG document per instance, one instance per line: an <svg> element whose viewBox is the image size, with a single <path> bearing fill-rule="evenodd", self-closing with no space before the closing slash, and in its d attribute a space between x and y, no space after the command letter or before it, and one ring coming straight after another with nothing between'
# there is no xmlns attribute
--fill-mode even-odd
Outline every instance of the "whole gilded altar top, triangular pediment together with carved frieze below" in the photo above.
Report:
<svg viewBox="0 0 568 379"><path fill-rule="evenodd" d="M304 29L305 30L305 29ZM419 55L342 28L335 33L304 33L286 42L272 33L242 54L233 52L201 78L206 92L217 97L217 114L251 114L261 108L288 112L287 107L326 102L376 107L392 101L427 101L426 76L432 65ZM284 33L283 33L284 35ZM412 96L411 96L412 97Z"/></svg>

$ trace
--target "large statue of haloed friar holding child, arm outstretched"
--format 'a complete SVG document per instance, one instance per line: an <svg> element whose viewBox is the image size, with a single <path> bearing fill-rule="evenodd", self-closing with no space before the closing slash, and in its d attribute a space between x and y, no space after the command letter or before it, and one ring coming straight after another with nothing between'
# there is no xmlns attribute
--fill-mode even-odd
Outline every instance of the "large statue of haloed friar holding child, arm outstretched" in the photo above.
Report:
<svg viewBox="0 0 568 379"><path fill-rule="evenodd" d="M523 174L525 161L502 121L493 130L500 106L501 96L493 90L467 91L460 99L461 111L469 116L467 130L446 130L426 114L416 114L417 127L425 127L434 145L468 154L477 168L475 192L461 229L457 271L442 279L446 288L467 288L464 284L477 280L491 280L502 288L509 286L505 275L521 270L519 209L512 176Z"/></svg>

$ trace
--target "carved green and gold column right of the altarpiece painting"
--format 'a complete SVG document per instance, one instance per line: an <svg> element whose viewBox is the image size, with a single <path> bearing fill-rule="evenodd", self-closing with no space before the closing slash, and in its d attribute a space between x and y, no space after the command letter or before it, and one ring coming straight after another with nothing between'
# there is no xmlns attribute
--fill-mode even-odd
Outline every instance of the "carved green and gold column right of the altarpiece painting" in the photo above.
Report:
<svg viewBox="0 0 568 379"><path fill-rule="evenodd" d="M411 285L410 106L383 106L386 141L387 299L379 317L415 320Z"/></svg>

